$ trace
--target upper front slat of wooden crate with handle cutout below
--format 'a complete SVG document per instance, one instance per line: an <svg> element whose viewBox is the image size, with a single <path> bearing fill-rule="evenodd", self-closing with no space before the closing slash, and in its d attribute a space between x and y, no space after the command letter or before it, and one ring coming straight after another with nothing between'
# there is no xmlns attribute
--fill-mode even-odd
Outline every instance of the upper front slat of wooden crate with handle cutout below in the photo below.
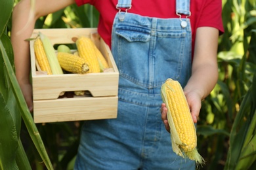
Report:
<svg viewBox="0 0 256 170"><path fill-rule="evenodd" d="M33 77L33 99L57 99L61 92L87 90L94 97L116 96L117 73L45 75Z"/></svg>

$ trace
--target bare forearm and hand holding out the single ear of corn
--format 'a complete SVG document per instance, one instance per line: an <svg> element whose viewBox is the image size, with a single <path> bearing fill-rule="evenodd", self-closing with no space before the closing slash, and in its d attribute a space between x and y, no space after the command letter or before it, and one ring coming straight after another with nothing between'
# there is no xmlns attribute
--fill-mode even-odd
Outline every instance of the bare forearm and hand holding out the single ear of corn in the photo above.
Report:
<svg viewBox="0 0 256 170"><path fill-rule="evenodd" d="M199 116L201 101L209 95L218 80L218 38L219 30L213 27L199 27L196 31L192 75L184 87L194 123ZM169 131L165 104L162 104L161 113L165 128Z"/></svg>

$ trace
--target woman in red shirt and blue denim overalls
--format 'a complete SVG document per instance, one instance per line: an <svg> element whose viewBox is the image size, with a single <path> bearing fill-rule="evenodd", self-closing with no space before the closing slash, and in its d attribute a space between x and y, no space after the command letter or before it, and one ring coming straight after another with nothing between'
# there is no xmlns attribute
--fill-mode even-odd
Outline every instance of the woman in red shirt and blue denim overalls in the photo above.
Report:
<svg viewBox="0 0 256 170"><path fill-rule="evenodd" d="M37 0L28 25L30 1L20 1L13 11L11 39L16 77L31 110L24 39L37 18L72 3L98 9L98 33L112 49L120 75L117 119L85 122L75 169L195 169L194 161L172 151L160 88L167 78L179 80L197 122L201 101L218 77L221 0ZM26 31L17 34L24 25Z"/></svg>

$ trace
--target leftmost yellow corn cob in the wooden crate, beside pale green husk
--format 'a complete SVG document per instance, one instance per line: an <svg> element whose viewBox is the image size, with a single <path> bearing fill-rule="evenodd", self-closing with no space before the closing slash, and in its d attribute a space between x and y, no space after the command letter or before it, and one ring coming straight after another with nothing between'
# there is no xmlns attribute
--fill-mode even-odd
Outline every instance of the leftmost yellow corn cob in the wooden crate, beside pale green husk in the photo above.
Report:
<svg viewBox="0 0 256 170"><path fill-rule="evenodd" d="M49 64L49 61L47 59L47 56L45 54L45 49L43 48L43 43L39 37L35 39L34 42L34 50L35 50L35 58L37 59L37 62L39 63L39 67L41 71L46 71L47 75L52 75L51 67Z"/></svg>

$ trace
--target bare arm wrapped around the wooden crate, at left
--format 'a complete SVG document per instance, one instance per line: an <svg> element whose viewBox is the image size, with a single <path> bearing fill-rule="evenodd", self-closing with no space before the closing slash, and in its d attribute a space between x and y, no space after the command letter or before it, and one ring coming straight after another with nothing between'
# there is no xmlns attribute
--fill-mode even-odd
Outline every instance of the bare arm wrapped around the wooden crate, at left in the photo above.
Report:
<svg viewBox="0 0 256 170"><path fill-rule="evenodd" d="M33 110L32 86L30 84L30 48L29 42L24 41L32 35L35 21L75 3L74 0L37 0L32 16L30 16L30 0L20 1L12 12L11 42L14 50L14 65L16 78L26 99L30 111ZM29 16L31 20L29 21Z"/></svg>

